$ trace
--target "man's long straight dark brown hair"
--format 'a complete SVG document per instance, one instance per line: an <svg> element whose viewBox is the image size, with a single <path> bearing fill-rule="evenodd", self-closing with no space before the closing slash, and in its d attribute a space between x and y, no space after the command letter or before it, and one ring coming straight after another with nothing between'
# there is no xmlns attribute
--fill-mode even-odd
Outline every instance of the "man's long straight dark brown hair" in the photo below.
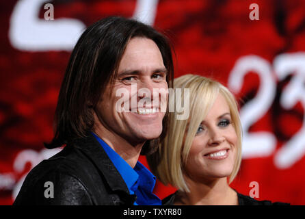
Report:
<svg viewBox="0 0 305 219"><path fill-rule="evenodd" d="M93 109L107 84L114 83L127 43L136 36L157 44L168 70L168 86L172 88L174 66L169 40L139 21L118 16L103 18L85 29L70 55L55 110L55 135L51 143L44 144L48 149L88 136L94 125ZM167 120L165 114L160 138L165 136ZM144 146L142 154L152 150Z"/></svg>

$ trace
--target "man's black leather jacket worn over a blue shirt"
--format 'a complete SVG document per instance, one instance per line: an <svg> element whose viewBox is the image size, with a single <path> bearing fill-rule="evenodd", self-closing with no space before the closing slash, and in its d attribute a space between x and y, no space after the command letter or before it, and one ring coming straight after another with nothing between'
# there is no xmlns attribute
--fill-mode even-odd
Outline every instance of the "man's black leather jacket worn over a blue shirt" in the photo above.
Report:
<svg viewBox="0 0 305 219"><path fill-rule="evenodd" d="M53 183L53 198L45 183ZM67 145L27 175L13 205L133 205L127 185L94 136Z"/></svg>

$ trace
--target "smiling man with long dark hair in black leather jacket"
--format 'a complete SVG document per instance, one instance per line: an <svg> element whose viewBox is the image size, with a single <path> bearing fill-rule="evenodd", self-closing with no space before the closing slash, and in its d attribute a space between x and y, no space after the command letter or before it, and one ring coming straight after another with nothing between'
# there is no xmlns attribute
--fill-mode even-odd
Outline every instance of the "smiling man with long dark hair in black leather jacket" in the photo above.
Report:
<svg viewBox="0 0 305 219"><path fill-rule="evenodd" d="M29 172L14 205L161 204L155 177L137 159L165 136L167 114L152 94L172 79L170 45L152 27L121 17L88 27L72 51L46 144L66 146ZM118 90L128 93L121 105Z"/></svg>

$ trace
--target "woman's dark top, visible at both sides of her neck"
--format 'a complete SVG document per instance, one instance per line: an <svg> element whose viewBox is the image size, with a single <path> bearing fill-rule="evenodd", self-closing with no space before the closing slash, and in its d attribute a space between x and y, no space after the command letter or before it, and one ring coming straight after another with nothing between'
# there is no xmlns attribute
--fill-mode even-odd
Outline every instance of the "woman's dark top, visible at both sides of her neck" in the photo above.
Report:
<svg viewBox="0 0 305 219"><path fill-rule="evenodd" d="M162 205L173 205L174 204L174 198L176 197L177 192L174 194L170 194L166 198L162 200ZM237 192L238 197L238 205L290 205L289 203L272 203L271 201L257 201L254 198L251 198L250 196L245 196L243 194L240 194Z"/></svg>

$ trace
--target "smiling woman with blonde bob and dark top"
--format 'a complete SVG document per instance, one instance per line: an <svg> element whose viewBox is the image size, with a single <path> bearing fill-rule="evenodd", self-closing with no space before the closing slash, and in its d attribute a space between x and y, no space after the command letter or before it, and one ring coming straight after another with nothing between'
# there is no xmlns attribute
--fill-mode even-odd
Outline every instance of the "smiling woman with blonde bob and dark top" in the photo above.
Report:
<svg viewBox="0 0 305 219"><path fill-rule="evenodd" d="M233 94L219 82L199 75L178 77L174 88L189 88L189 118L178 120L178 113L172 113L168 135L159 151L148 156L148 164L161 182L178 189L163 204L280 204L256 201L229 186L241 164L241 123ZM181 93L184 100L187 92Z"/></svg>

